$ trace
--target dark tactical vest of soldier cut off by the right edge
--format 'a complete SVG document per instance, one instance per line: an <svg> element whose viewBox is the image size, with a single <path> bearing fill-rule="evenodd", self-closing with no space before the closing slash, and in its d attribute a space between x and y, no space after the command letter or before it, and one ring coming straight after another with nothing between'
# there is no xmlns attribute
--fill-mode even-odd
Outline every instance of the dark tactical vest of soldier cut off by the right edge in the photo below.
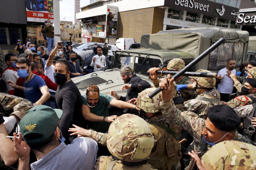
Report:
<svg viewBox="0 0 256 170"><path fill-rule="evenodd" d="M243 121L243 136L250 140L256 146L256 132L255 127L251 124L252 118L256 117L256 103L253 103L253 109L250 114Z"/></svg>

